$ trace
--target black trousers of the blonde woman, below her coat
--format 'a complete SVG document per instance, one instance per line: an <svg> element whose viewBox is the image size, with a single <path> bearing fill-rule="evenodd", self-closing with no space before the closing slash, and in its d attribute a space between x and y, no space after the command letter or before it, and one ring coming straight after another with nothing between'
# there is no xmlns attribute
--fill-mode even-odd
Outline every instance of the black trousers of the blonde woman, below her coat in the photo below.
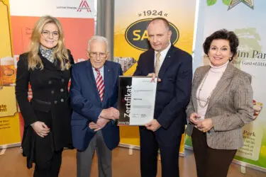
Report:
<svg viewBox="0 0 266 177"><path fill-rule="evenodd" d="M33 177L57 177L62 163L62 149L54 151L49 137L36 137L34 162Z"/></svg>

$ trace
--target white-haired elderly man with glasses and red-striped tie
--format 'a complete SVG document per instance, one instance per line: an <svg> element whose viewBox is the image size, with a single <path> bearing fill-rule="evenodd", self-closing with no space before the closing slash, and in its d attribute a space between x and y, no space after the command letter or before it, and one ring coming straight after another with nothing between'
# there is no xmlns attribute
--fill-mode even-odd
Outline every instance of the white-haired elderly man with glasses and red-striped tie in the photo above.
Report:
<svg viewBox="0 0 266 177"><path fill-rule="evenodd" d="M99 176L111 177L111 150L119 143L118 77L121 65L106 61L107 40L89 40L89 60L72 68L70 99L73 108L72 137L77 148L77 177L90 176L96 149Z"/></svg>

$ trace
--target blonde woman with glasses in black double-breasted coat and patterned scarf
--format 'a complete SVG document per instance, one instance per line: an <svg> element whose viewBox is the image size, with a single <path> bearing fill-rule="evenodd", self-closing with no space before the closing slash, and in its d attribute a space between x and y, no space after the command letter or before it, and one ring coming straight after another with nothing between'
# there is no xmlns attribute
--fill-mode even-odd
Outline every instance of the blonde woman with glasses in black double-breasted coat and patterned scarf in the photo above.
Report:
<svg viewBox="0 0 266 177"><path fill-rule="evenodd" d="M19 57L16 75L16 99L25 123L23 156L28 168L35 163L34 177L58 176L62 149L72 147L67 89L71 64L74 59L65 48L62 25L51 16L40 17L29 52Z"/></svg>

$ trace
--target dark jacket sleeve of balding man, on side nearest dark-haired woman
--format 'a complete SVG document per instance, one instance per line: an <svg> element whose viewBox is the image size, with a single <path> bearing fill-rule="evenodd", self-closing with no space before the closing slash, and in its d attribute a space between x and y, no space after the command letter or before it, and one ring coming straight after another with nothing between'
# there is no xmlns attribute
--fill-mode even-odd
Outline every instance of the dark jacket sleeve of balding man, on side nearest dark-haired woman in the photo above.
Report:
<svg viewBox="0 0 266 177"><path fill-rule="evenodd" d="M187 54L181 57L182 64L175 81L175 95L157 118L157 121L165 129L177 118L178 112L184 110L189 103L192 89L192 56Z"/></svg>

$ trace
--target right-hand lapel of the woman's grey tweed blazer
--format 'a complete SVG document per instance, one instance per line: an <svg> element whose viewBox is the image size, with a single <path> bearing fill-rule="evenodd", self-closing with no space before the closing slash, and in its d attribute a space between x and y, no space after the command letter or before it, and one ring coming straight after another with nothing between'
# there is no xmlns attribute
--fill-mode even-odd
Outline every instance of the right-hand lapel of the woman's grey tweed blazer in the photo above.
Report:
<svg viewBox="0 0 266 177"><path fill-rule="evenodd" d="M231 78L233 77L234 72L235 67L233 67L233 65L229 63L226 67L225 72L223 73L223 76L221 76L221 79L218 81L214 91L211 93L211 98L209 100L206 113L218 99L222 98L221 94L231 84Z"/></svg>

